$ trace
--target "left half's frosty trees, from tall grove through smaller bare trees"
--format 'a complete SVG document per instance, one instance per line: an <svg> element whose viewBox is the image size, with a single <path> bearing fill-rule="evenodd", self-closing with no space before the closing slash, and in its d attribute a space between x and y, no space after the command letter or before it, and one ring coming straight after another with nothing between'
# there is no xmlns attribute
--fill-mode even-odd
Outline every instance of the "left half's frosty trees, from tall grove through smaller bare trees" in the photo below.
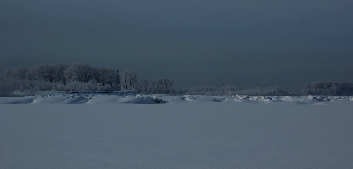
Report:
<svg viewBox="0 0 353 169"><path fill-rule="evenodd" d="M113 91L171 92L174 80L169 78L143 79L137 82L137 73L131 70L117 72L110 68L91 67L87 63L38 64L17 66L5 70L0 77L0 93L11 91Z"/></svg>

